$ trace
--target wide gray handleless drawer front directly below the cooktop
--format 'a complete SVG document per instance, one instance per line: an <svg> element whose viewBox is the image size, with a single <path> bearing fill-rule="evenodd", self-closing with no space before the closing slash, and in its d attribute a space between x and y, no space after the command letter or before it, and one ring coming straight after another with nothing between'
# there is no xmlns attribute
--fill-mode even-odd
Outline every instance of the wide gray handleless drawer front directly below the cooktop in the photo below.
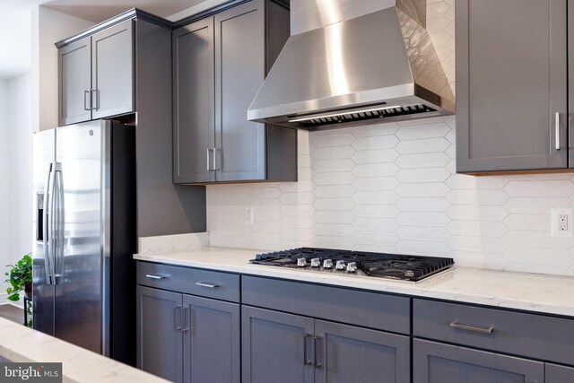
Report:
<svg viewBox="0 0 574 383"><path fill-rule="evenodd" d="M410 300L405 297L243 275L241 302L350 325L410 333Z"/></svg>

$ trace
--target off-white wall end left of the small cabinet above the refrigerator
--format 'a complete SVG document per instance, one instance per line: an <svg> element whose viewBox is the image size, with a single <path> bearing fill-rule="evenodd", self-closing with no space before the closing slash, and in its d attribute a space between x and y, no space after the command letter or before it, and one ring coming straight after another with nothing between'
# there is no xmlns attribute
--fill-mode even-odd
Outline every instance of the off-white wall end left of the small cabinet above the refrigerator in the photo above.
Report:
<svg viewBox="0 0 574 383"><path fill-rule="evenodd" d="M94 25L66 13L43 6L32 10L32 94L34 130L58 125L57 48L61 39Z"/></svg>

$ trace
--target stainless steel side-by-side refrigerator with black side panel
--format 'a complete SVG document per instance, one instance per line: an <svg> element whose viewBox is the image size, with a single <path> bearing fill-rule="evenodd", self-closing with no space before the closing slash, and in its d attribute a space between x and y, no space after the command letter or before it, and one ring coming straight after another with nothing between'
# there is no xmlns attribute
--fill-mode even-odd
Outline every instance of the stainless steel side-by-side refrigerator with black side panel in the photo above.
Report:
<svg viewBox="0 0 574 383"><path fill-rule="evenodd" d="M135 127L34 135L33 326L135 361Z"/></svg>

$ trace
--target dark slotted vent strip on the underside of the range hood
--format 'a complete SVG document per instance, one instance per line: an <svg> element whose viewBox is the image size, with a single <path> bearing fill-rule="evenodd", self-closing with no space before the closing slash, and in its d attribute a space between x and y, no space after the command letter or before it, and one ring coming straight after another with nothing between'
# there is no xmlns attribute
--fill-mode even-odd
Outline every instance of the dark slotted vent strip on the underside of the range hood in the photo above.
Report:
<svg viewBox="0 0 574 383"><path fill-rule="evenodd" d="M427 113L435 111L426 105L415 104L408 106L393 106L379 108L362 108L354 111L341 113L323 113L308 116L288 116L288 122L299 123L302 127L324 126L331 124L343 124L353 121L364 121L373 118L392 118L416 113Z"/></svg>

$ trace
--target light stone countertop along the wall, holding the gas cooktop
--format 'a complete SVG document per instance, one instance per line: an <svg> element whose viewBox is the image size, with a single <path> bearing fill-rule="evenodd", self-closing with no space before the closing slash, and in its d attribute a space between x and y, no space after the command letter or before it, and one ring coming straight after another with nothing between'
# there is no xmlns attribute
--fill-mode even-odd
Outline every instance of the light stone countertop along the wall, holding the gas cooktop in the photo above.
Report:
<svg viewBox="0 0 574 383"><path fill-rule="evenodd" d="M337 275L270 265L249 259L265 251L204 247L163 254L136 254L135 259L224 272L325 283L377 292L453 300L500 308L574 317L574 278L458 267L420 283L389 281L359 275Z"/></svg>

